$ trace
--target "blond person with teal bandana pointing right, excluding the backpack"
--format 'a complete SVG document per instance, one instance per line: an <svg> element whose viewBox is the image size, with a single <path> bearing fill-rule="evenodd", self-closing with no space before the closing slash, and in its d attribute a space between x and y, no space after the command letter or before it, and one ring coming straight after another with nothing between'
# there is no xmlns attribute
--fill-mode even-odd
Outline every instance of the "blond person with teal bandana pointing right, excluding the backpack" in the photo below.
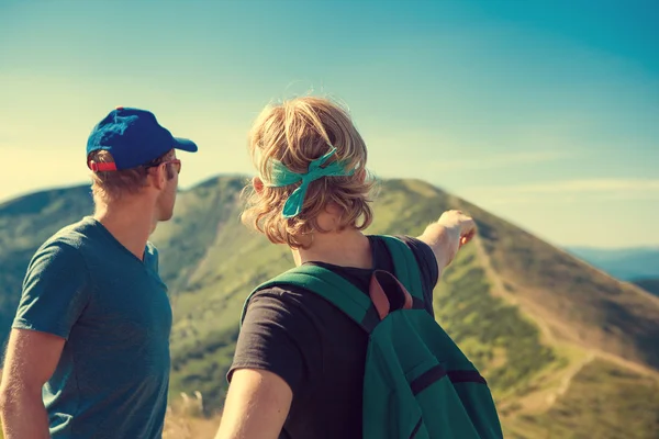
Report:
<svg viewBox="0 0 659 439"><path fill-rule="evenodd" d="M392 271L372 219L367 150L337 105L302 98L267 109L250 150L259 177L244 221L291 247L297 266L321 266L368 294L375 269ZM474 233L458 212L418 238L402 237L421 268L426 311L440 270ZM304 288L255 292L237 341L217 438L357 438L368 335Z"/></svg>

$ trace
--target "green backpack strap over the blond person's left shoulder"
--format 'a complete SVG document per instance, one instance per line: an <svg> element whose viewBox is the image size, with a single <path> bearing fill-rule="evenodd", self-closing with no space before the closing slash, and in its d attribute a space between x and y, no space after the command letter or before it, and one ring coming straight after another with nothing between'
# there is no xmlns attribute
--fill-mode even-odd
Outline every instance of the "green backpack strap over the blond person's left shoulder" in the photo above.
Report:
<svg viewBox="0 0 659 439"><path fill-rule="evenodd" d="M300 266L292 268L257 286L245 301L241 324L245 318L249 299L259 290L271 286L293 285L312 291L322 296L348 317L361 326L367 333L380 322L378 311L368 295L340 275L317 266Z"/></svg>

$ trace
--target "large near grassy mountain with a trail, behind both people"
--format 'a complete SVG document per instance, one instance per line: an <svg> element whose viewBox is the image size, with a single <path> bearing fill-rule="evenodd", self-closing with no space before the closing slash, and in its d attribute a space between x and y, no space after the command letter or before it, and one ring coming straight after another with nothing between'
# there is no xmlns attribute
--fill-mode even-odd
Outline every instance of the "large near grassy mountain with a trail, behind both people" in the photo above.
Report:
<svg viewBox="0 0 659 439"><path fill-rule="evenodd" d="M245 297L293 263L239 223L243 184L180 193L153 236L175 312L172 406L199 391L206 414L220 409ZM91 209L89 188L0 205L1 337L34 249ZM479 235L435 290L437 319L489 381L506 438L656 438L659 297L417 180L381 183L368 233L417 236L447 209L472 214Z"/></svg>

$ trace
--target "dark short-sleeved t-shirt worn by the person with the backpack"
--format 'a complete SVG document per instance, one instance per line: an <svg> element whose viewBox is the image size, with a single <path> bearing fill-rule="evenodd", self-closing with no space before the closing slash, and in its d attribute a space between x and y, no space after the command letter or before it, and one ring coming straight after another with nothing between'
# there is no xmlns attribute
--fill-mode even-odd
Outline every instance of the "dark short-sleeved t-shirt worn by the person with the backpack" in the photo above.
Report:
<svg viewBox="0 0 659 439"><path fill-rule="evenodd" d="M369 236L373 268L393 272L386 244ZM400 237L412 249L422 274L426 309L433 315L438 280L433 250ZM368 294L373 270L310 262L327 268ZM301 288L271 288L249 301L233 371L264 369L281 376L293 392L280 438L361 438L361 393L368 335L321 296Z"/></svg>

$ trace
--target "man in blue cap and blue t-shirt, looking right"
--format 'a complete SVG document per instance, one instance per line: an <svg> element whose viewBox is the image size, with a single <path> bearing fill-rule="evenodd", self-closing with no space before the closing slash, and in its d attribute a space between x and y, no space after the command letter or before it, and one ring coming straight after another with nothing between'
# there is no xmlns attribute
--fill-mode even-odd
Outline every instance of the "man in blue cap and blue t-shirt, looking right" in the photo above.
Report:
<svg viewBox="0 0 659 439"><path fill-rule="evenodd" d="M7 349L7 439L160 438L171 307L148 236L171 217L197 151L148 111L118 108L91 132L96 211L36 251Z"/></svg>

